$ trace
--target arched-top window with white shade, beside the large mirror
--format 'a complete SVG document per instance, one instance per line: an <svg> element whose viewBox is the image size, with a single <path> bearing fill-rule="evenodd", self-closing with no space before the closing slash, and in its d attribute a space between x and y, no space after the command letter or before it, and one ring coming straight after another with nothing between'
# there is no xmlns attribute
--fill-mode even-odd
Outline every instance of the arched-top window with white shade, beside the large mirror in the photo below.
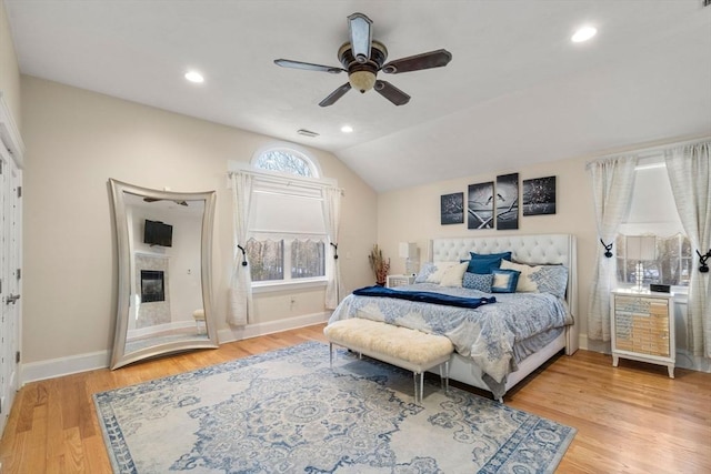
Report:
<svg viewBox="0 0 711 474"><path fill-rule="evenodd" d="M256 286L326 281L328 236L318 168L306 153L284 147L258 152L252 164L294 180L254 181L246 253Z"/></svg>

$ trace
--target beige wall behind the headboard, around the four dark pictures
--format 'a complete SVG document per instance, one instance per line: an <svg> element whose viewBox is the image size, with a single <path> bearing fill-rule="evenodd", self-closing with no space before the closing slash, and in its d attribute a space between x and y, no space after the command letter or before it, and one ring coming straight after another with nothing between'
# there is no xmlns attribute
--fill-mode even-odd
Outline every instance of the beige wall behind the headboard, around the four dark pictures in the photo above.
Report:
<svg viewBox="0 0 711 474"><path fill-rule="evenodd" d="M472 153L472 160L475 160ZM557 177L557 212L552 215L519 218L518 231L468 230L464 224L440 225L440 195L463 192L469 184L495 181L497 174L519 173L520 181ZM378 242L392 259L391 273L402 273L404 261L398 256L398 242L417 242L421 260L427 260L428 240L441 236L488 236L508 234L571 233L578 238L579 323L587 334L585 310L592 280L597 229L592 191L584 159L570 159L543 164L501 170L452 181L392 191L379 195Z"/></svg>

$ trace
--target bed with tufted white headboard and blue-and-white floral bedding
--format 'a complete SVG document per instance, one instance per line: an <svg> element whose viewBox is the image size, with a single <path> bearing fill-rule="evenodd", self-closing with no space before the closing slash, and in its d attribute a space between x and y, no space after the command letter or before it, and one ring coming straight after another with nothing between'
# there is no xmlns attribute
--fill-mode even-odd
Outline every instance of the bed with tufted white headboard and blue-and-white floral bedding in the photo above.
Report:
<svg viewBox="0 0 711 474"><path fill-rule="evenodd" d="M497 289L482 291L489 288L481 288L472 269L488 264L492 255L495 261L497 254L508 252L509 258L491 265ZM450 299L484 300L479 307L351 294L329 322L364 317L447 335L455 347L450 377L503 400L507 391L550 357L563 350L568 355L578 350L575 252L575 238L570 234L434 239L415 283L393 291L441 292ZM484 275L482 280L488 279L485 269L477 271ZM542 274L555 275L557 286L547 286L550 279L541 280ZM512 275L520 278L523 285L510 281ZM501 284L509 289L499 288ZM533 290L525 286L530 284ZM549 292L549 288L554 290ZM492 296L495 303L489 304Z"/></svg>

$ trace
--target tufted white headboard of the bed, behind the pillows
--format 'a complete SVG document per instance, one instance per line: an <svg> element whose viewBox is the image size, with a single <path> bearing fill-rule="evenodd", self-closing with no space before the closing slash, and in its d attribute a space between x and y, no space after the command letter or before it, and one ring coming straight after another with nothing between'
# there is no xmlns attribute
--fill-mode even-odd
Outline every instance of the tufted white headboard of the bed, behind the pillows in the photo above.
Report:
<svg viewBox="0 0 711 474"><path fill-rule="evenodd" d="M433 262L459 262L469 252L500 253L511 251L517 262L563 264L568 266L565 300L573 319L578 316L578 249L571 234L442 238L430 241ZM578 326L578 324L575 324ZM577 329L575 329L577 330ZM577 343L577 341L575 341Z"/></svg>

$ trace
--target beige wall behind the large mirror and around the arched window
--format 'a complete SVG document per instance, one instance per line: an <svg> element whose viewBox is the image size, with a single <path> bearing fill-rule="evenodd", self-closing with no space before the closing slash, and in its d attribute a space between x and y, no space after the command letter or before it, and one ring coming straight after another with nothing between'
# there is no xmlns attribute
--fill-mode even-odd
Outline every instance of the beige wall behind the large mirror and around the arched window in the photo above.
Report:
<svg viewBox="0 0 711 474"><path fill-rule="evenodd" d="M107 180L172 191L217 190L213 294L229 327L232 245L228 160L274 141L56 82L22 77L23 362L107 351L113 341L117 255ZM339 253L346 289L371 281L377 194L333 154L307 149L344 189ZM297 304L291 303L298 295ZM323 291L259 294L257 323L320 313Z"/></svg>

